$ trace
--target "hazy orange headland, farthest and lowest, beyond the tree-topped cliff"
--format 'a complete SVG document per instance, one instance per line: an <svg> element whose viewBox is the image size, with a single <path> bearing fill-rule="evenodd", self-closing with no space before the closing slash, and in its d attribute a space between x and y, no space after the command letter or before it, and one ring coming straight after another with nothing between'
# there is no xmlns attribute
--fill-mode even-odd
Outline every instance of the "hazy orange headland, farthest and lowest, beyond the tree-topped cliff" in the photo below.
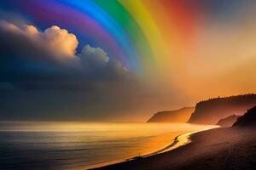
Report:
<svg viewBox="0 0 256 170"><path fill-rule="evenodd" d="M147 122L187 122L195 107L184 107L177 111L160 111Z"/></svg>

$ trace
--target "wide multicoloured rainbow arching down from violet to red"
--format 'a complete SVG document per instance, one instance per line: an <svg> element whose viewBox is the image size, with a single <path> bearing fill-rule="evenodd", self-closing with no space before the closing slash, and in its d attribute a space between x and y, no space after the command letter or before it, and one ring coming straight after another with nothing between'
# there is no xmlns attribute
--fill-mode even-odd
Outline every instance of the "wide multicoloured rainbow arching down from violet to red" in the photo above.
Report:
<svg viewBox="0 0 256 170"><path fill-rule="evenodd" d="M25 0L19 8L39 28L65 28L78 37L79 48L101 47L143 72L182 61L199 7L185 0Z"/></svg>

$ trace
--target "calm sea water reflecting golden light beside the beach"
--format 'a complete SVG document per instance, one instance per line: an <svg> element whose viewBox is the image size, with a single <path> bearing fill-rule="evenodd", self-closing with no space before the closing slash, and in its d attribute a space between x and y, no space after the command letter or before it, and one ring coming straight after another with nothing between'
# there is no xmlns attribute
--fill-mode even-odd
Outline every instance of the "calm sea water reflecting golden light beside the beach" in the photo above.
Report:
<svg viewBox="0 0 256 170"><path fill-rule="evenodd" d="M0 122L0 169L86 169L147 155L207 126L169 123Z"/></svg>

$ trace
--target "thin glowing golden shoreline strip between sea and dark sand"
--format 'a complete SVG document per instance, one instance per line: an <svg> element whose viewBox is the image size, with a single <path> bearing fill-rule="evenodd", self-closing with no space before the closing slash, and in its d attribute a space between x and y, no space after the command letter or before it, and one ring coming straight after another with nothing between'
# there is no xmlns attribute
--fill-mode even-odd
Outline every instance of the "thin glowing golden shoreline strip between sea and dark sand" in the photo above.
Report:
<svg viewBox="0 0 256 170"><path fill-rule="evenodd" d="M212 127L207 127L207 128L204 128L204 129L201 129L201 130L198 130L198 131L195 131L195 132L191 132L191 133L183 133L183 134L179 134L177 135L171 144L167 145L165 148L163 149L160 149L160 150L156 150L150 154L147 154L147 155L143 155L143 156L134 156L134 157L131 157L131 158L127 158L127 159L121 159L121 160L116 160L116 161L108 161L108 162L105 162L105 163L101 163L101 164L96 164L96 165L93 165L93 166L88 166L88 167L85 167L86 169L88 170L93 170L93 169L98 169L98 168L102 168L102 167L108 167L108 166L113 166L115 164L119 164L119 163L124 163L124 162L127 162L127 161L134 161L134 160L137 160L137 159L141 159L141 158L148 158L150 156L156 156L156 155L160 155L162 153L165 153L165 152L168 152L168 151L171 151L171 150L175 150L185 144L189 144L191 143L191 135L195 134L195 133L201 133L203 131L207 131L207 130L210 130L210 129L214 129L214 128L218 128L218 126L212 126Z"/></svg>

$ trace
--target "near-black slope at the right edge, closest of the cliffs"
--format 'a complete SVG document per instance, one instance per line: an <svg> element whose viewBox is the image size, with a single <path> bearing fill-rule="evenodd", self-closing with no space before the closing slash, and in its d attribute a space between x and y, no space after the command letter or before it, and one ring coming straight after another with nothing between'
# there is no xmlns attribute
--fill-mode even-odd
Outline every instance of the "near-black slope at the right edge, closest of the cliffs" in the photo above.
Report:
<svg viewBox="0 0 256 170"><path fill-rule="evenodd" d="M233 127L256 127L256 106L239 117Z"/></svg>

